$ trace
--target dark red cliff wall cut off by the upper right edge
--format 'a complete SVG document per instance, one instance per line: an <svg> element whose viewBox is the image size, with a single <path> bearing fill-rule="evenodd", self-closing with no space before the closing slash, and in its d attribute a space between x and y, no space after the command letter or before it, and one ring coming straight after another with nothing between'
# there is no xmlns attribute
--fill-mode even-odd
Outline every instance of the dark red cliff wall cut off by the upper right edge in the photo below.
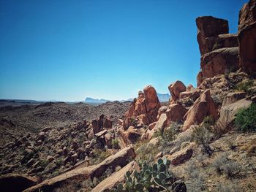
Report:
<svg viewBox="0 0 256 192"><path fill-rule="evenodd" d="M239 12L238 41L240 67L256 72L256 1L244 4Z"/></svg>

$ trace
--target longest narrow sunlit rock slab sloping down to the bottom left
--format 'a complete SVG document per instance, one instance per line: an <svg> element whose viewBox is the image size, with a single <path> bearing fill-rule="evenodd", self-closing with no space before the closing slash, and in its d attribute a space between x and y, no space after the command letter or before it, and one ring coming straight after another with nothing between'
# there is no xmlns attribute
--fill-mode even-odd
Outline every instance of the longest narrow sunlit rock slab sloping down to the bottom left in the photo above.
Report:
<svg viewBox="0 0 256 192"><path fill-rule="evenodd" d="M63 174L59 174L56 177L50 178L48 180L44 180L42 183L38 185L34 185L31 188L27 188L24 192L29 191L38 191L41 189L42 191L53 191L53 189L58 188L59 185L65 183L66 181L70 182L72 180L82 181L89 178L100 177L108 167L116 167L116 166L125 166L127 165L128 160L130 158L135 158L135 151L133 147L127 147L123 150L118 151L115 155L111 155L106 158L102 163L97 164L95 166L87 166L80 167L78 166L75 169L70 170L69 172L64 172Z"/></svg>

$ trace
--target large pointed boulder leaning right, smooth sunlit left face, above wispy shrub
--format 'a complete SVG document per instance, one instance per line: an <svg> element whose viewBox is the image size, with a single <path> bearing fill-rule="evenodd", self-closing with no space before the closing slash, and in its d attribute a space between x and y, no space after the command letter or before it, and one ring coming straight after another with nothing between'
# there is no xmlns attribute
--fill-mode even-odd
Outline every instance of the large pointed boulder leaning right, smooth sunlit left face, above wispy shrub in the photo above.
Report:
<svg viewBox="0 0 256 192"><path fill-rule="evenodd" d="M195 101L193 106L184 115L184 126L183 131L187 130L190 126L200 124L203 122L203 118L211 116L217 118L217 106L214 100L211 98L210 90L206 90L201 96Z"/></svg>

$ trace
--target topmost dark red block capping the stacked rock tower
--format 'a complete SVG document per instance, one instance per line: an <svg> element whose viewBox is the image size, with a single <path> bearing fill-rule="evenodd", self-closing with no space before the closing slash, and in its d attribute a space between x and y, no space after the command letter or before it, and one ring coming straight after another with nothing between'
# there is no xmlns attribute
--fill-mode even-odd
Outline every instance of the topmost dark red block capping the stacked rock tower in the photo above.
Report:
<svg viewBox="0 0 256 192"><path fill-rule="evenodd" d="M197 42L201 55L209 52L209 47L206 44L206 38L216 37L219 34L228 34L227 20L214 18L211 16L199 17L197 23ZM211 50L211 49L210 49Z"/></svg>

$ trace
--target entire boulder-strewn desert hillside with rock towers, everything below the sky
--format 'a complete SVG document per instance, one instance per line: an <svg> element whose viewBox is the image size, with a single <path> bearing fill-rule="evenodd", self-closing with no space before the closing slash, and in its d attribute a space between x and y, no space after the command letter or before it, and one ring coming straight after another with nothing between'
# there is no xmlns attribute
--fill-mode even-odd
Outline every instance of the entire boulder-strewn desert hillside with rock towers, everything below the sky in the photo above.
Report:
<svg viewBox="0 0 256 192"><path fill-rule="evenodd" d="M196 19L197 88L170 83L167 106L148 85L131 103L97 112L1 108L1 131L12 134L1 145L0 188L256 191L255 12L255 0L241 8L238 34L228 34L227 20Z"/></svg>

